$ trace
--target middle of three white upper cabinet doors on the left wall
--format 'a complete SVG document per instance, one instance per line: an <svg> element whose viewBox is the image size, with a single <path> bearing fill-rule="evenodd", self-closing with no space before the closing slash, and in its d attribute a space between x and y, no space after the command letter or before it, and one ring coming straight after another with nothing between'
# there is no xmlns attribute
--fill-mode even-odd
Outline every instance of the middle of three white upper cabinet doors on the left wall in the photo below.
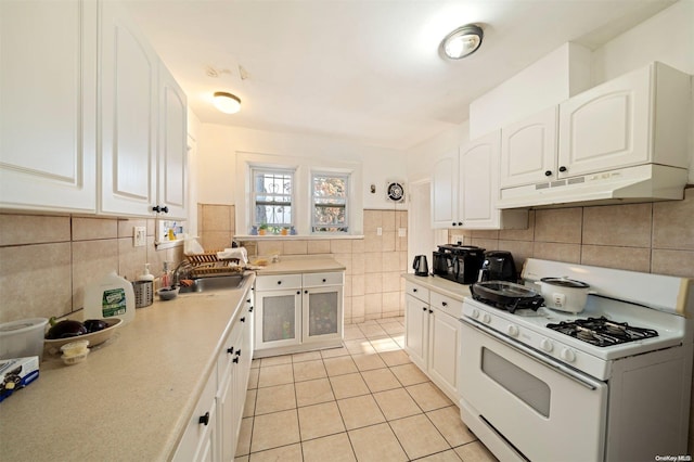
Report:
<svg viewBox="0 0 694 462"><path fill-rule="evenodd" d="M152 215L158 57L117 2L102 3L101 24L100 211Z"/></svg>

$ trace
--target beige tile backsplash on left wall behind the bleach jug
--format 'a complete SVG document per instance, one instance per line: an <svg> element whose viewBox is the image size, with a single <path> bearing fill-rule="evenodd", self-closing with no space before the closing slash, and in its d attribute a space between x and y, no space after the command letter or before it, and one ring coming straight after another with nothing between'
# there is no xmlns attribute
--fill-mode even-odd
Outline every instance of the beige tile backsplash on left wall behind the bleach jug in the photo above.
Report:
<svg viewBox="0 0 694 462"><path fill-rule="evenodd" d="M134 247L133 227L147 245ZM110 271L133 281L150 264L182 259L183 247L156 251L154 219L0 214L0 322L69 315L83 305L85 286Z"/></svg>

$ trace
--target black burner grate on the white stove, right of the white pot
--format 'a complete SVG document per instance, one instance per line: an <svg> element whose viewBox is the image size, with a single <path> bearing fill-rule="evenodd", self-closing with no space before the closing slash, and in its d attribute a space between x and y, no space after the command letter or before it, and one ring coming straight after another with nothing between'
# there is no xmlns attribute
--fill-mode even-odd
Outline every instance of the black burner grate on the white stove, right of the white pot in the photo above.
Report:
<svg viewBox="0 0 694 462"><path fill-rule="evenodd" d="M653 329L634 328L626 322L611 321L607 318L577 319L547 324L549 329L599 347L626 344L628 342L657 337Z"/></svg>

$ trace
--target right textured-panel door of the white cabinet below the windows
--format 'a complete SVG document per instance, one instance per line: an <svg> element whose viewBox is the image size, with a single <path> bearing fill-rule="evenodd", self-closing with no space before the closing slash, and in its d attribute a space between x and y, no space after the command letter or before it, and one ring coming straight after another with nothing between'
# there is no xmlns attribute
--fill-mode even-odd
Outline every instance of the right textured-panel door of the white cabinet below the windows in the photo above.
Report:
<svg viewBox="0 0 694 462"><path fill-rule="evenodd" d="M304 342L342 338L343 287L304 290Z"/></svg>

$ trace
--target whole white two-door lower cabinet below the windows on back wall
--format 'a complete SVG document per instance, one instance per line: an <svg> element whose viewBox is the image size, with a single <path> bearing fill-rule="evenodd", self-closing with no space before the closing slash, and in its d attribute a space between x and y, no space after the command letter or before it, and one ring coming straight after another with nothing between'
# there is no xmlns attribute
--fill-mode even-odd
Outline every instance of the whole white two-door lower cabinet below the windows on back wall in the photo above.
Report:
<svg viewBox="0 0 694 462"><path fill-rule="evenodd" d="M343 287L342 271L259 275L256 356L340 345Z"/></svg>

